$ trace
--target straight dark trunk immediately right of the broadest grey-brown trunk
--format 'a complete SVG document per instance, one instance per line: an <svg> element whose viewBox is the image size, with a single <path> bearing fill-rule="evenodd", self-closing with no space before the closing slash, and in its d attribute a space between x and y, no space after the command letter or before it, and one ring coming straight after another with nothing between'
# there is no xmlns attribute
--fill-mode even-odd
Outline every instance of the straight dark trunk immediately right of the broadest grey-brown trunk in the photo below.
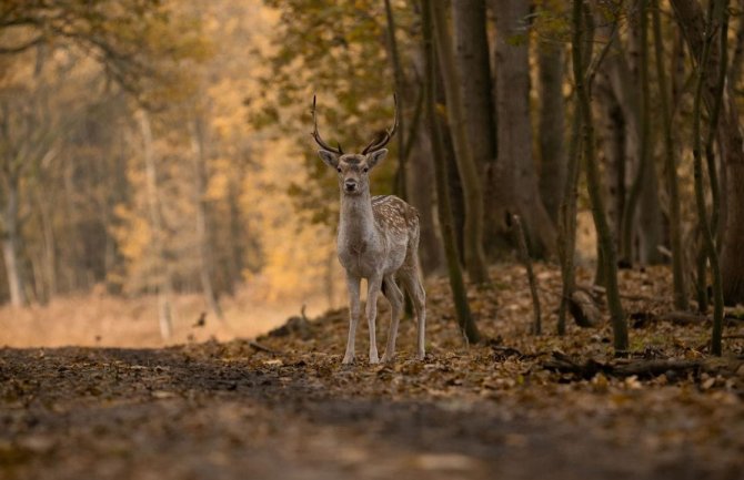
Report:
<svg viewBox="0 0 744 480"><path fill-rule="evenodd" d="M543 8L550 7L546 4ZM542 42L537 50L537 70L540 72L540 196L553 222L557 222L563 184L566 178L563 50L562 43L553 42Z"/></svg>

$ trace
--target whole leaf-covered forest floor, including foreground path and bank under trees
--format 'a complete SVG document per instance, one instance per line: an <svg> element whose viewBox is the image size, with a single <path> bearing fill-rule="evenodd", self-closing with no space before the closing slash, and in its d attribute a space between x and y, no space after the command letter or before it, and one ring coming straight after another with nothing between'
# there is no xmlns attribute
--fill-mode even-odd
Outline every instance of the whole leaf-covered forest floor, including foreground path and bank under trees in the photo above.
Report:
<svg viewBox="0 0 744 480"><path fill-rule="evenodd" d="M0 478L744 478L743 321L712 358L710 321L664 317L665 269L623 270L619 359L606 324L554 334L560 275L537 277L545 333L523 269L499 265L470 292L474 346L430 284L423 362L404 320L394 364L368 364L363 323L341 366L343 310L255 340L0 349Z"/></svg>

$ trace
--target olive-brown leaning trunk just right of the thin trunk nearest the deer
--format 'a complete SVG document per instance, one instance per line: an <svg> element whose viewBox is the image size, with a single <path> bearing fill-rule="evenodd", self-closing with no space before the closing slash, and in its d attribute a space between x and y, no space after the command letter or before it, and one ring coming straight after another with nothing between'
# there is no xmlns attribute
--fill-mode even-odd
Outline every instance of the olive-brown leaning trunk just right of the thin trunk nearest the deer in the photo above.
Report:
<svg viewBox="0 0 744 480"><path fill-rule="evenodd" d="M483 192L477 167L473 161L465 124L465 112L460 95L460 72L458 72L452 39L446 23L444 3L431 4L435 31L436 51L442 67L446 92L448 122L454 139L458 171L465 198L465 267L471 282L489 282L489 270L483 253Z"/></svg>

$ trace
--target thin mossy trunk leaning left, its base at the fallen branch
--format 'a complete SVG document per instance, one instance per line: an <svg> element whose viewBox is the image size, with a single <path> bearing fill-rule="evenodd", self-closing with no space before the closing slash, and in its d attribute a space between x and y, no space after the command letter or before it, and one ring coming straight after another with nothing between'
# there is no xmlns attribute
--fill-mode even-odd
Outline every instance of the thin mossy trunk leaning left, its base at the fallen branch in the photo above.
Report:
<svg viewBox="0 0 744 480"><path fill-rule="evenodd" d="M602 248L602 256L605 266L607 307L613 329L613 345L615 351L624 353L629 348L627 323L623 306L620 300L620 289L617 287L617 265L615 245L607 225L607 218L602 200L602 186L600 181L600 171L595 157L594 147L594 126L592 121L592 109L589 96L587 79L584 75L583 67L583 23L582 22L582 0L573 1L572 23L572 59L574 81L576 83L576 96L579 100L579 110L584 131L584 162L586 165L586 181L589 187L590 201L592 204L592 215L597 233L597 242Z"/></svg>

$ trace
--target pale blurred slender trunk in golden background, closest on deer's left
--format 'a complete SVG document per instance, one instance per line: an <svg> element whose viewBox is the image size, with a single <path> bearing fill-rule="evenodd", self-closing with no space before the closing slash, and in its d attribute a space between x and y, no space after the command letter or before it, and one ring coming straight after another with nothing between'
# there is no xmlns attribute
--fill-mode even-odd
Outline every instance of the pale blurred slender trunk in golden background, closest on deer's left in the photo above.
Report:
<svg viewBox="0 0 744 480"><path fill-rule="evenodd" d="M207 153L205 153L205 136L204 120L201 114L197 114L193 123L191 145L193 155L191 155L195 175L195 191L194 202L197 206L197 238L199 242L199 276L201 279L201 288L204 294L204 299L209 309L219 318L222 319L222 308L214 292L212 283L213 258L212 243L209 235L208 227L208 205L207 205L207 182L209 174L207 173Z"/></svg>

